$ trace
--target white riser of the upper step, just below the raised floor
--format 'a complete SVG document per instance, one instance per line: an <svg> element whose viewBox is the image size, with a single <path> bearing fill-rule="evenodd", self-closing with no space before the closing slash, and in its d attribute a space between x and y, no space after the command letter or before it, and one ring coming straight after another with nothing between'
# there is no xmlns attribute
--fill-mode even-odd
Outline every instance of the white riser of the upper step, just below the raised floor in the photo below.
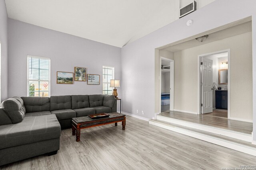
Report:
<svg viewBox="0 0 256 170"><path fill-rule="evenodd" d="M232 138L247 141L247 142L252 141L252 136L249 135L249 134L246 134L246 133L230 131L230 130L227 130L227 129L221 129L221 128L207 126L207 125L200 125L200 124L197 124L197 123L182 121L182 120L178 120L178 119L172 119L170 117L165 117L165 116L161 116L161 115L157 116L157 120L166 121L166 122L169 122L169 123L174 123L174 124L177 124L177 125L190 127L190 128L198 129L198 130L201 130L201 131L207 131L207 132L210 132L210 133L224 135L224 136L227 136L227 137L232 137Z"/></svg>

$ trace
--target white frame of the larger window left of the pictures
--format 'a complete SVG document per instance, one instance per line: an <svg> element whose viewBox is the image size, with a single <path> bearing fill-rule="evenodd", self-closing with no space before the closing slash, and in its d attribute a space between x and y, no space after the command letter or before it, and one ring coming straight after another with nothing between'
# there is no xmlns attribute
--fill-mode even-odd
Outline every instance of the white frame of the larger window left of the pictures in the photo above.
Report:
<svg viewBox="0 0 256 170"><path fill-rule="evenodd" d="M36 58L36 59L47 59L49 60L49 79L48 80L36 80L36 79L29 79L29 58ZM29 81L38 81L38 82L47 82L48 81L48 88L49 88L49 97L51 96L51 59L47 57L38 57L34 55L27 55L27 96L29 97ZM42 97L42 96L40 96Z"/></svg>

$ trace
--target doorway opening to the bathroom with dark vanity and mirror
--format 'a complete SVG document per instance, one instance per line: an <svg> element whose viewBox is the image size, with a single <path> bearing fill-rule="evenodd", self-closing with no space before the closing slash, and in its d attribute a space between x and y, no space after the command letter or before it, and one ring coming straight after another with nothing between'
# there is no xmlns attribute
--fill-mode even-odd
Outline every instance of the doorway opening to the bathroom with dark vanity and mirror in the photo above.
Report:
<svg viewBox="0 0 256 170"><path fill-rule="evenodd" d="M230 49L198 56L198 113L230 119Z"/></svg>

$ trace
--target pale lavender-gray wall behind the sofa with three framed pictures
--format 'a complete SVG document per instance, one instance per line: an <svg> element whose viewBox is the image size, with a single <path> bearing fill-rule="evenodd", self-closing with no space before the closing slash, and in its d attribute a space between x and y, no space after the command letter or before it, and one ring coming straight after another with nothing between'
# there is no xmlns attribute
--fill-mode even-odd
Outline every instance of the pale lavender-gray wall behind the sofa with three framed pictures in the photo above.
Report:
<svg viewBox="0 0 256 170"><path fill-rule="evenodd" d="M121 79L121 48L12 19L8 19L8 54L8 97L27 95L27 55L51 59L51 96L102 94L102 65L114 66L115 78ZM56 84L56 72L74 72L74 66L100 74L100 85Z"/></svg>

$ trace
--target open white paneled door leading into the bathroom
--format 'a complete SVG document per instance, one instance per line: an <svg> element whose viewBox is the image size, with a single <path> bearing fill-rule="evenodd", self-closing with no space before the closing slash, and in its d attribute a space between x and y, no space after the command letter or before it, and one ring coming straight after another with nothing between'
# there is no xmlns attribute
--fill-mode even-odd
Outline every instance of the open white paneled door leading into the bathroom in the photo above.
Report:
<svg viewBox="0 0 256 170"><path fill-rule="evenodd" d="M212 60L201 58L202 75L201 75L201 113L212 112Z"/></svg>

